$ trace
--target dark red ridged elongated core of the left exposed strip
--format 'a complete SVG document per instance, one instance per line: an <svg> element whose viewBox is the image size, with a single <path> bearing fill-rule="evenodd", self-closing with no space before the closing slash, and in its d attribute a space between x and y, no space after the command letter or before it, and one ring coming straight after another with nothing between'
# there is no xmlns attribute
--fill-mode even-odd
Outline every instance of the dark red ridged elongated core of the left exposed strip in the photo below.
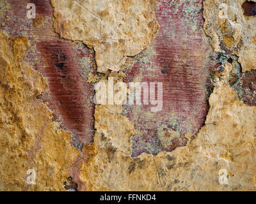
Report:
<svg viewBox="0 0 256 204"><path fill-rule="evenodd" d="M72 59L74 50L63 41L40 41L36 47L47 63L44 75L49 82L51 105L81 142L92 142L93 120L87 117L92 113L86 110L86 90Z"/></svg>

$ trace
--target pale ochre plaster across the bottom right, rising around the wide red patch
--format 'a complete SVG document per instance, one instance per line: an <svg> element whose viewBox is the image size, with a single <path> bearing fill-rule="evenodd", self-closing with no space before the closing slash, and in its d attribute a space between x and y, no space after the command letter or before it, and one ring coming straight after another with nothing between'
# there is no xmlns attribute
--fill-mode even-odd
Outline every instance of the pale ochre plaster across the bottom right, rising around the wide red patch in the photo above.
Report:
<svg viewBox="0 0 256 204"><path fill-rule="evenodd" d="M84 147L90 154L80 175L87 190L255 190L256 108L244 105L228 84L231 69L231 64L225 64L226 71L211 94L205 126L186 147L172 152L159 152L157 156L143 153L131 158L126 150L131 147L131 122L97 106L95 140L90 147ZM113 131L115 138L109 136ZM220 170L227 173L223 175L227 184L219 183Z"/></svg>

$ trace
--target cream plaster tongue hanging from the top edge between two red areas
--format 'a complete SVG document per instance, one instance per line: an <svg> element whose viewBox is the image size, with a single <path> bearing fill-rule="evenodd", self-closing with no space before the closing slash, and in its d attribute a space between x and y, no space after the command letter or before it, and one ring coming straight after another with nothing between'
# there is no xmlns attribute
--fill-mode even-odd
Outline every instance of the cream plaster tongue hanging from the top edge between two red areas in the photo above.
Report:
<svg viewBox="0 0 256 204"><path fill-rule="evenodd" d="M93 47L97 71L118 71L127 56L139 54L159 29L155 1L51 1L54 29L61 38ZM134 6L136 5L136 6Z"/></svg>

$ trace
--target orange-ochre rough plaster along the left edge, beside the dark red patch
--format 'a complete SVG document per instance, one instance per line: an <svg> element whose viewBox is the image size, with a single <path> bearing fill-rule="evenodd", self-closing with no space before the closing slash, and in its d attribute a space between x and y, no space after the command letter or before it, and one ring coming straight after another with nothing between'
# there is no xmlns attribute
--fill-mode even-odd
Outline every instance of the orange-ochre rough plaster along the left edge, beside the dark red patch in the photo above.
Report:
<svg viewBox="0 0 256 204"><path fill-rule="evenodd" d="M22 62L28 40L0 33L0 189L61 191L79 151L70 133L52 122L52 112L36 99L46 87L40 73ZM36 184L26 182L34 169Z"/></svg>

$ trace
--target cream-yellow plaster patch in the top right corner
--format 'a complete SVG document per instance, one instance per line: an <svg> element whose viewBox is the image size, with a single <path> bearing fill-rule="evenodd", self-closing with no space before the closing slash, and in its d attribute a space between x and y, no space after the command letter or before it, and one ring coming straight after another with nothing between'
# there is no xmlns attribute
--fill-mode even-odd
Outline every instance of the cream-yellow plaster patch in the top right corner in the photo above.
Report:
<svg viewBox="0 0 256 204"><path fill-rule="evenodd" d="M211 38L211 46L216 52L239 56L243 71L250 71L256 69L256 18L244 15L245 2L204 1L204 30Z"/></svg>

